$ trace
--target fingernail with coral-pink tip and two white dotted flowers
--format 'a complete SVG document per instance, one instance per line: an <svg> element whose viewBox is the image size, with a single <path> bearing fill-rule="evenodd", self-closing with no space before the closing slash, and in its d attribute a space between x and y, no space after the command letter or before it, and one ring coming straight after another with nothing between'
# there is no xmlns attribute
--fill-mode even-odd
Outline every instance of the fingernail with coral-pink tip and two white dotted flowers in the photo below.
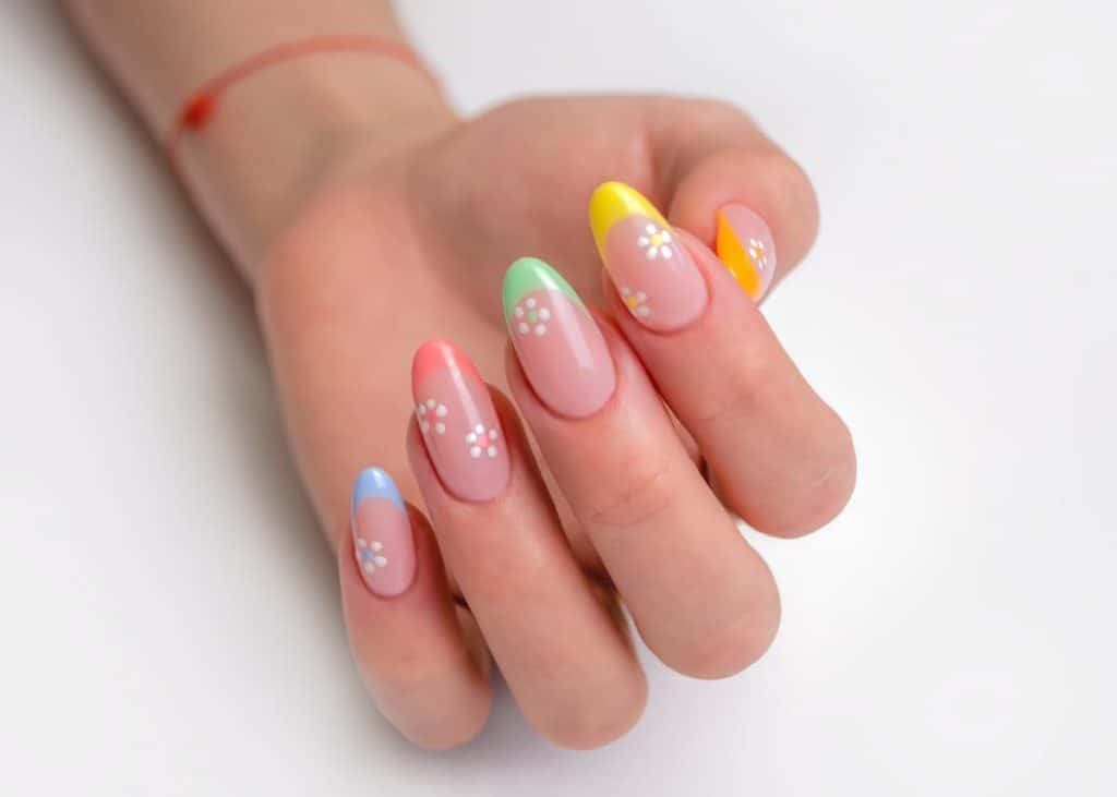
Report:
<svg viewBox="0 0 1117 797"><path fill-rule="evenodd" d="M419 431L442 484L464 501L490 501L508 484L508 451L488 387L449 340L428 340L411 364Z"/></svg>

